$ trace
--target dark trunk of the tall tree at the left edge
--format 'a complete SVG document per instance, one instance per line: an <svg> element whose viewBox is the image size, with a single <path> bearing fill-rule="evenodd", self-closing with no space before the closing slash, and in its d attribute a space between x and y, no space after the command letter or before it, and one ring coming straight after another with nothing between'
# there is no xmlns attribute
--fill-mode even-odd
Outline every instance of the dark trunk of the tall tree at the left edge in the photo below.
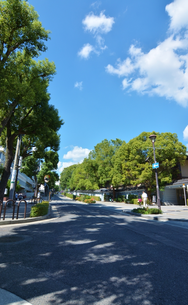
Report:
<svg viewBox="0 0 188 305"><path fill-rule="evenodd" d="M5 188L11 174L10 167L14 160L13 155L13 142L16 135L11 135L11 129L9 122L7 123L7 135L6 135L6 153L5 153L5 166L0 181L0 200L3 201Z"/></svg>

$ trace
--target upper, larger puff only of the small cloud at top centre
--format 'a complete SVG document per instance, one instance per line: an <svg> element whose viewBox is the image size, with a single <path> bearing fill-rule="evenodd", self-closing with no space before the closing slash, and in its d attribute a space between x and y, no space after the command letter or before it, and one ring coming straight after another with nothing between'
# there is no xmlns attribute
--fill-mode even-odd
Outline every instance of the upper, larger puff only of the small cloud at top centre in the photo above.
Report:
<svg viewBox="0 0 188 305"><path fill-rule="evenodd" d="M114 24L114 17L106 17L104 12L101 12L99 16L94 15L90 12L82 23L85 30L90 31L90 33L108 33L112 30L112 25Z"/></svg>

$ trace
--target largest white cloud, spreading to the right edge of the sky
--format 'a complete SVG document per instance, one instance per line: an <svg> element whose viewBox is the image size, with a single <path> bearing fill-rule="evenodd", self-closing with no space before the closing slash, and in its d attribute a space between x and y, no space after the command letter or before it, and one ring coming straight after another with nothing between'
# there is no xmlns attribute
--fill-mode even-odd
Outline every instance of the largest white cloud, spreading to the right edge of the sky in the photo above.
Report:
<svg viewBox="0 0 188 305"><path fill-rule="evenodd" d="M122 88L140 94L158 95L174 99L182 106L188 103L188 1L175 0L166 6L171 17L171 35L148 53L131 45L129 57L118 59L116 67L108 65L106 71L125 76ZM186 11L186 13L185 13ZM178 34L182 30L184 34Z"/></svg>

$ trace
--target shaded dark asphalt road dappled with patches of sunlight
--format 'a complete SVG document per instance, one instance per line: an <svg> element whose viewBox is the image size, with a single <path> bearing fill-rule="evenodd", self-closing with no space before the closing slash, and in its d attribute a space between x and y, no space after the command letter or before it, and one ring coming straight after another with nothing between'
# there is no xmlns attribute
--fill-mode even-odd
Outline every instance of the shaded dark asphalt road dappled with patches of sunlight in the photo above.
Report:
<svg viewBox="0 0 188 305"><path fill-rule="evenodd" d="M0 228L0 288L33 305L188 305L188 229L81 205Z"/></svg>

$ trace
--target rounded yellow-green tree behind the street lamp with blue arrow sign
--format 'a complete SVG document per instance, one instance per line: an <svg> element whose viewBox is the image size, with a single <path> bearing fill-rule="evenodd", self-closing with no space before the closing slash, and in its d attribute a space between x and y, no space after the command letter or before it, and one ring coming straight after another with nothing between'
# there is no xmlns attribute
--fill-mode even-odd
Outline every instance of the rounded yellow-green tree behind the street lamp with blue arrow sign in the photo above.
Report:
<svg viewBox="0 0 188 305"><path fill-rule="evenodd" d="M149 135L157 135L155 147L156 160L159 162L159 188L179 178L178 164L186 160L186 146L178 141L177 135L170 132L142 132L115 152L112 183L114 185L144 184L149 199L156 190L155 171L152 169L154 155Z"/></svg>

